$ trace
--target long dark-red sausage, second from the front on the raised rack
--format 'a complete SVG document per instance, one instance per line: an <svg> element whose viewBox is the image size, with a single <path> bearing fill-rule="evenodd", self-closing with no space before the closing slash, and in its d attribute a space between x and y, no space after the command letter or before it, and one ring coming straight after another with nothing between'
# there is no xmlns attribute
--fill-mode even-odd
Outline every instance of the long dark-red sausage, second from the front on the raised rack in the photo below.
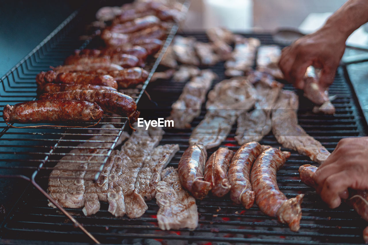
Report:
<svg viewBox="0 0 368 245"><path fill-rule="evenodd" d="M137 118L135 110L137 104L134 99L128 95L117 91L106 90L74 90L58 93L44 93L40 95L40 99L63 99L63 100L80 100L95 102L102 107L103 111L115 113L120 116L128 116L130 122L135 122Z"/></svg>

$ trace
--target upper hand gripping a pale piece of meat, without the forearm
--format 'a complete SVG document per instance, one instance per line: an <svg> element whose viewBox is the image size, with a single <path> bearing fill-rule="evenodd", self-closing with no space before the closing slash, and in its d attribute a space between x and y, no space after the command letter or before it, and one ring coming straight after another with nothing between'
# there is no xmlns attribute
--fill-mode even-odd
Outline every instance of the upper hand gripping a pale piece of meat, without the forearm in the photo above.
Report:
<svg viewBox="0 0 368 245"><path fill-rule="evenodd" d="M304 75L312 65L321 69L319 85L326 90L335 78L344 54L346 37L332 28L322 28L297 39L282 50L279 67L285 79L298 89L304 89Z"/></svg>

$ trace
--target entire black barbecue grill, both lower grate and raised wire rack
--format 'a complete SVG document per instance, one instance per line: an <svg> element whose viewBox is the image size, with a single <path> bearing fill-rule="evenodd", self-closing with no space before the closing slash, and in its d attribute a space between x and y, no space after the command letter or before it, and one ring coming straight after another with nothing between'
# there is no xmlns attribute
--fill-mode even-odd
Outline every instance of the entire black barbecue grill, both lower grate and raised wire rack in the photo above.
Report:
<svg viewBox="0 0 368 245"><path fill-rule="evenodd" d="M86 46L90 47L91 40L78 40L78 21L82 18L78 12L73 13L54 32L52 32L40 45L1 78L2 88L0 106L7 103L14 104L35 97L35 75L42 70L47 70L49 65L59 65L72 50ZM173 26L168 33L166 45L171 41L177 26ZM184 35L184 33L182 33ZM185 33L184 36L195 36L202 42L207 42L204 33ZM246 37L256 37L263 45L276 44L272 36L264 34L246 34ZM165 49L166 46L163 47ZM150 77L155 71L158 60L151 63ZM224 79L223 63L211 67L219 76L214 82ZM149 77L149 78L150 78ZM148 78L148 81L149 81ZM158 80L148 85L129 90L127 93L138 102L138 110L145 119L157 119L170 114L171 104L177 100L185 83L175 83L170 80ZM292 90L291 85L285 85L285 89ZM344 137L366 135L367 125L362 119L362 112L358 106L354 92L351 89L347 70L340 67L330 94L337 95L333 101L336 107L334 116L315 115L310 111L307 102L301 103L298 111L300 125L307 133L320 141L329 151L332 151L337 142ZM143 96L142 96L143 95ZM142 97L142 98L141 98ZM205 107L202 107L201 115L192 123L192 128L197 126L204 118ZM118 121L118 122L116 122ZM103 124L113 123L116 129L109 129L110 134L94 133ZM63 124L61 127L43 127L17 129L11 128L0 122L2 129L1 140L1 169L4 173L1 177L19 177L32 182L24 193L19 193L16 205L7 213L7 217L1 225L1 242L10 244L49 244L50 242L79 242L90 243L93 240L82 230L75 227L74 220L68 219L66 213L59 209L47 206L45 190L49 174L62 156L67 155L71 149L75 149L81 142L89 142L92 136L114 136L115 140L102 154L106 162L112 149L116 147L118 136L122 133L127 118L108 117L106 121L91 128L72 128L72 126L93 125L94 123ZM160 144L177 143L180 150L174 156L169 166L177 167L178 161L184 150L188 147L188 138L191 129L164 129L166 134ZM229 149L238 149L234 140L236 125L234 125L222 146ZM96 142L99 142L98 140ZM100 141L103 142L103 141ZM104 142L106 143L106 142ZM279 147L272 134L265 136L262 144ZM208 151L209 155L215 149ZM282 150L287 150L282 148ZM14 152L16 154L14 154ZM368 223L362 220L358 214L347 205L341 205L338 209L328 209L312 188L302 184L298 178L298 167L303 164L315 164L306 156L301 156L292 151L291 157L277 174L280 190L286 193L288 198L305 193L302 203L301 228L298 232L291 232L287 225L280 224L277 220L262 214L258 207L254 206L245 210L242 206L231 203L229 196L224 198L206 197L197 200L199 212L199 226L196 230L171 230L161 231L158 227L156 214L158 206L155 201L147 203L148 210L138 219L128 217L113 217L107 211L107 203L101 203L100 211L90 217L85 217L81 209L66 208L69 218L79 221L83 227L99 242L105 244L223 244L230 243L255 243L255 244L347 244L362 243L362 230ZM101 167L102 169L102 167ZM98 178L96 174L95 179Z"/></svg>

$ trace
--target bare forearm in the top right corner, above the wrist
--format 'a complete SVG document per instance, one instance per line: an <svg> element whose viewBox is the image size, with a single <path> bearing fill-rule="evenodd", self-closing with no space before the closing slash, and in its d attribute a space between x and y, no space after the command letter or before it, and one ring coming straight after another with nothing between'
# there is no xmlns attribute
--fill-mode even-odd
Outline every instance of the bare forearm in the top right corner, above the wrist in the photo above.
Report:
<svg viewBox="0 0 368 245"><path fill-rule="evenodd" d="M348 0L330 18L321 30L343 35L346 40L362 24L368 22L368 0Z"/></svg>

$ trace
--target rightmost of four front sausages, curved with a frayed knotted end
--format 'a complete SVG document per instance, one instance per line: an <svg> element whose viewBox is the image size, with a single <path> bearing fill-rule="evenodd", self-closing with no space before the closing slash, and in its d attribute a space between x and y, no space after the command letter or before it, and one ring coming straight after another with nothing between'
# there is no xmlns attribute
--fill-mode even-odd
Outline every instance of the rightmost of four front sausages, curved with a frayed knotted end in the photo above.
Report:
<svg viewBox="0 0 368 245"><path fill-rule="evenodd" d="M279 190L276 172L283 167L290 152L269 148L255 160L251 171L251 184L255 192L255 202L259 209L279 222L289 225L291 231L298 231L301 219L301 202L304 194L295 198L287 197Z"/></svg>

